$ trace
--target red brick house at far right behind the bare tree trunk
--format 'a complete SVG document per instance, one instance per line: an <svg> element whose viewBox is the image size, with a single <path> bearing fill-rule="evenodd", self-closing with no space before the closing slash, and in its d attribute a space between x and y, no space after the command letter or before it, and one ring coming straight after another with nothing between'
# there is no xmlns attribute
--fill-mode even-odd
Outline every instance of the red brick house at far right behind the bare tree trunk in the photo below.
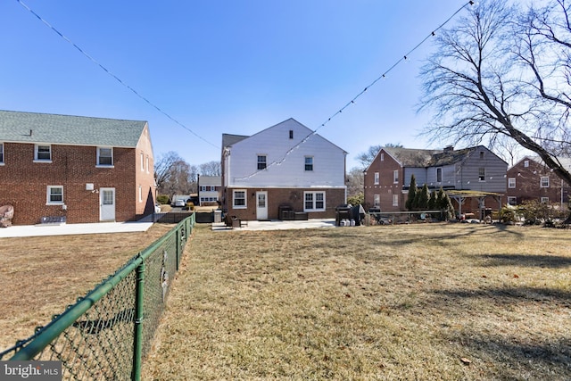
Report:
<svg viewBox="0 0 571 381"><path fill-rule="evenodd" d="M571 170L571 159L559 159ZM508 170L508 203L517 205L536 200L542 203L569 202L569 185L557 176L538 156L525 156Z"/></svg>

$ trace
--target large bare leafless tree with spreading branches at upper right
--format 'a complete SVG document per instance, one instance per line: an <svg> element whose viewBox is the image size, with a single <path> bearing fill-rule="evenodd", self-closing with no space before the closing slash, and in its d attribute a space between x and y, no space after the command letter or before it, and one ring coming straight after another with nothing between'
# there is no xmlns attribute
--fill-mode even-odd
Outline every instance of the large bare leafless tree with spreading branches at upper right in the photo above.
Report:
<svg viewBox="0 0 571 381"><path fill-rule="evenodd" d="M527 12L482 0L439 34L421 70L420 109L434 111L426 134L490 147L509 137L571 184L557 158L569 145L567 11L564 0Z"/></svg>

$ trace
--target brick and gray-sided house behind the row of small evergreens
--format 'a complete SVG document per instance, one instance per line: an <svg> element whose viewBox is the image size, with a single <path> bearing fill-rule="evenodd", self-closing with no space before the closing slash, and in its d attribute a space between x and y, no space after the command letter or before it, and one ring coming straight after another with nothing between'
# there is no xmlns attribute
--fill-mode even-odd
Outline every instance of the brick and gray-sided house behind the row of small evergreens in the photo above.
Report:
<svg viewBox="0 0 571 381"><path fill-rule="evenodd" d="M500 197L506 192L508 164L483 145L454 150L381 148L364 176L365 204L381 211L405 211L411 175L417 186L430 190L441 187L462 203L464 211L484 207L486 196ZM459 191L465 191L463 194ZM481 197L478 199L477 197ZM501 204L498 200L497 205Z"/></svg>

